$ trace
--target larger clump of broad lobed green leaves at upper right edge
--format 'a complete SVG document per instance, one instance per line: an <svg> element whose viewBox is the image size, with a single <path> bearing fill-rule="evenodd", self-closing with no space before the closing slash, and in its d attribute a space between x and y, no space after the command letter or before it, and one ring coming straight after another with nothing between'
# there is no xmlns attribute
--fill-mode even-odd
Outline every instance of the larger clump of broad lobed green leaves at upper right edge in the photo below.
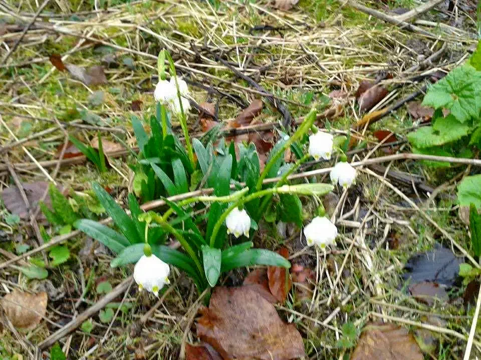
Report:
<svg viewBox="0 0 481 360"><path fill-rule="evenodd" d="M473 146L481 149L480 57L478 45L468 63L454 68L428 89L422 104L434 107L435 112L430 126L408 134L413 152L471 157ZM447 162L427 163L434 167L449 166Z"/></svg>

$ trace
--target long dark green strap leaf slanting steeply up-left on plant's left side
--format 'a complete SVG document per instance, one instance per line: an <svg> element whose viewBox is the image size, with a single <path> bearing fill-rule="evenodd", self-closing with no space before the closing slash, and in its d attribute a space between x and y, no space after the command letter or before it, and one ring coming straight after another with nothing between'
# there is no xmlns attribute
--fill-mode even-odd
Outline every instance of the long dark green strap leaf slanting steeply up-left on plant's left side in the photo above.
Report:
<svg viewBox="0 0 481 360"><path fill-rule="evenodd" d="M92 187L100 203L104 206L105 211L112 217L112 220L128 241L130 243L143 242L143 238L139 237L137 228L130 216L115 202L112 196L97 182L94 182Z"/></svg>

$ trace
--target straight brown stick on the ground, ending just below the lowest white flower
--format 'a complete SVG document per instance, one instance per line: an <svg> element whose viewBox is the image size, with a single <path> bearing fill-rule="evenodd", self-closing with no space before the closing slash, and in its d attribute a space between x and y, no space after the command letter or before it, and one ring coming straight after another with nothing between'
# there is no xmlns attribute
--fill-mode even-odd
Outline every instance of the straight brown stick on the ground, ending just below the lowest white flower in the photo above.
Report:
<svg viewBox="0 0 481 360"><path fill-rule="evenodd" d="M102 308L105 307L110 301L114 300L117 296L119 296L122 292L124 292L128 286L130 286L133 280L132 276L127 277L121 283L114 287L112 291L102 297L99 301L97 301L94 305L90 306L87 310L82 312L78 315L75 319L70 321L67 325L62 327L61 329L55 331L52 335L47 337L44 341L39 343L39 348L42 350L46 347L53 345L58 339L64 337L65 335L74 331L82 322L87 320L90 316L100 311Z"/></svg>

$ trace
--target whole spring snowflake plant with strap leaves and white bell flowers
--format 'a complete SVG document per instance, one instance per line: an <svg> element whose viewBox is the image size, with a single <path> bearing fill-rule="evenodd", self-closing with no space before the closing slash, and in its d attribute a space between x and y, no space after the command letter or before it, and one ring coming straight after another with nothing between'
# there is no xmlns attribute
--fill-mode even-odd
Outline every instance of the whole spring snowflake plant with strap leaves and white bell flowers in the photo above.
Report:
<svg viewBox="0 0 481 360"><path fill-rule="evenodd" d="M165 58L170 60L171 76L176 78L170 56L163 51L159 56L159 79L165 79ZM176 84L181 103L178 80ZM169 89L165 82L162 86ZM163 101L168 100L163 98ZM136 263L136 281L154 294L168 282L166 274L169 271L163 263L183 270L196 284L199 293L215 286L222 273L235 267L256 264L289 267L290 262L276 252L253 248L250 239L261 220L290 221L301 227L301 197L322 196L334 188L326 183L287 184L288 176L311 158L312 151L304 149L308 147L308 132L312 129L313 133L318 133L314 126L316 110L309 112L291 136L281 134L281 139L269 153L264 170L260 171L259 155L253 143L238 144L239 156L236 157L233 142L226 147L221 139L214 149L212 140L217 137L204 138L204 143L196 138L191 140L183 110L180 123L185 145L182 145L169 127L167 108L168 104L167 107L157 105L157 117L150 119L150 137L140 120L134 118L132 121L141 153L138 161L152 170L145 175L147 180L141 181L141 197L145 199L144 191L150 191L155 198L164 201L164 208L158 212L144 212L136 196L129 193L130 213L127 214L102 186L94 183L99 202L112 217L116 229L91 219L77 220L74 226L117 254L111 266ZM342 151L335 146L330 135L317 135L309 141L309 148L317 149L316 154L320 157L327 158L334 151ZM288 149L298 158L295 163L285 162L284 154ZM265 179L272 177L276 177L275 182L265 183ZM162 185L163 192L146 188L155 181ZM193 196L177 202L166 197L202 187L212 188L212 195ZM233 235L232 242L229 234ZM169 237L180 243L181 250L165 245ZM162 269L156 272L157 277L151 277L145 271L145 263L155 263Z"/></svg>

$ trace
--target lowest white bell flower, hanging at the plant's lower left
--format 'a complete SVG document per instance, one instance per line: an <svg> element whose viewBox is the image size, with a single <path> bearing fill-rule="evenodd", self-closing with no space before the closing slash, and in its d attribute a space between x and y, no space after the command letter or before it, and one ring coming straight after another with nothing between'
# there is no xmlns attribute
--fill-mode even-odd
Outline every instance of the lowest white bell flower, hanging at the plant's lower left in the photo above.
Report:
<svg viewBox="0 0 481 360"><path fill-rule="evenodd" d="M170 267L155 255L142 255L134 267L134 280L139 290L147 290L155 296L164 285L169 284Z"/></svg>

